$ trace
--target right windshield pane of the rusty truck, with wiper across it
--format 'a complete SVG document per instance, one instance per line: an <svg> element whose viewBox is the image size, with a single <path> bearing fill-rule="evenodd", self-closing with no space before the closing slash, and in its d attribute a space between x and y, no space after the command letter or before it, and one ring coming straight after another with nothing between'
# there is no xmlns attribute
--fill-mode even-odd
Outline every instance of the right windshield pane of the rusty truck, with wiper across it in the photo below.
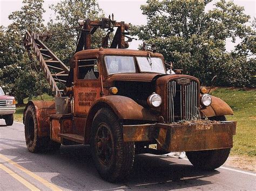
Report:
<svg viewBox="0 0 256 191"><path fill-rule="evenodd" d="M141 72L166 73L163 60L156 57L136 57Z"/></svg>

